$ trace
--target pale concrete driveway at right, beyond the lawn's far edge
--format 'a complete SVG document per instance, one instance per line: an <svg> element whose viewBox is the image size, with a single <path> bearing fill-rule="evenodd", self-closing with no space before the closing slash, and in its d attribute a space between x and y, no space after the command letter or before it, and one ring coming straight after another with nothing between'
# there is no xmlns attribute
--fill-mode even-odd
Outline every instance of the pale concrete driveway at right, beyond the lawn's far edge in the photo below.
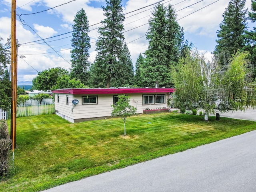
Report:
<svg viewBox="0 0 256 192"><path fill-rule="evenodd" d="M231 110L226 113L220 113L220 118L221 117L256 121L256 109L246 109L245 112L244 111L234 111L233 112Z"/></svg>

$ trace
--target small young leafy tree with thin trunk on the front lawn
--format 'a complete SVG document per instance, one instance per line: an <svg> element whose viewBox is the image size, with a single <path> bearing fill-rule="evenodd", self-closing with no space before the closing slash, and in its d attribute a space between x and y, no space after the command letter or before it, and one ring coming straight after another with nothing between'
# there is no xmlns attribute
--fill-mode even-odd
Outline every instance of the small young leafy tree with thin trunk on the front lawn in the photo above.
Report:
<svg viewBox="0 0 256 192"><path fill-rule="evenodd" d="M111 116L119 116L124 120L124 135L126 135L125 121L126 118L136 114L136 108L130 106L130 96L118 95L116 105L111 105L113 108Z"/></svg>

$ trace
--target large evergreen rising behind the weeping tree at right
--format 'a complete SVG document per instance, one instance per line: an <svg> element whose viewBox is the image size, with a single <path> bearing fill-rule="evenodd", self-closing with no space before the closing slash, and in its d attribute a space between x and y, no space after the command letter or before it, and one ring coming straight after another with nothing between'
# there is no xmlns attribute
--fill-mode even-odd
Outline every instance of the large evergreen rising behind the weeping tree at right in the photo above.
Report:
<svg viewBox="0 0 256 192"><path fill-rule="evenodd" d="M230 0L228 7L222 14L223 20L220 30L217 30L217 45L214 54L227 51L234 54L244 47L244 32L247 28L247 9L244 10L246 0Z"/></svg>

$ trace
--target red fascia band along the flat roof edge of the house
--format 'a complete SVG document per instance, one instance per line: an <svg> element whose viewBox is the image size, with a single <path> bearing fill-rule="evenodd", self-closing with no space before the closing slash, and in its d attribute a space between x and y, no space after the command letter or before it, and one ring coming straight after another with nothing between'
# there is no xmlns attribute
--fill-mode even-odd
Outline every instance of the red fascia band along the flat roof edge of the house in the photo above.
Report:
<svg viewBox="0 0 256 192"><path fill-rule="evenodd" d="M58 89L52 90L53 93L64 94L129 94L129 93L172 93L175 88L94 88L94 89Z"/></svg>

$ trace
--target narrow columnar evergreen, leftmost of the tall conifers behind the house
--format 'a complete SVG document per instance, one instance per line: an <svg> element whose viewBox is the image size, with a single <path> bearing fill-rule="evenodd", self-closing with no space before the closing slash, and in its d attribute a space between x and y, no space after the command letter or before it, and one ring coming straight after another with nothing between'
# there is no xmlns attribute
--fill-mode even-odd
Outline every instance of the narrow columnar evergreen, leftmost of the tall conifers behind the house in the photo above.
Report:
<svg viewBox="0 0 256 192"><path fill-rule="evenodd" d="M90 67L88 58L91 45L88 25L86 12L82 8L76 13L74 19L70 77L80 80L83 84L88 84L88 69Z"/></svg>

